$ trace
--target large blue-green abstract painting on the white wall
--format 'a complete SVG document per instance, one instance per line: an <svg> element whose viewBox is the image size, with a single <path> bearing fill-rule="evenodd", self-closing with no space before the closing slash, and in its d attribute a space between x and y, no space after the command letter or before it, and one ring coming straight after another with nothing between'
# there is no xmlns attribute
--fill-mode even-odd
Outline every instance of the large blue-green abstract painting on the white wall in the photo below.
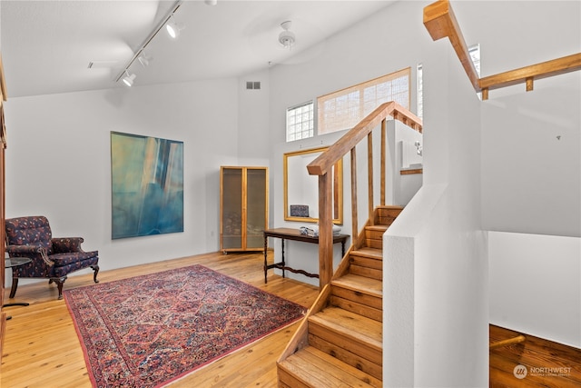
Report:
<svg viewBox="0 0 581 388"><path fill-rule="evenodd" d="M183 232L183 142L111 133L112 237Z"/></svg>

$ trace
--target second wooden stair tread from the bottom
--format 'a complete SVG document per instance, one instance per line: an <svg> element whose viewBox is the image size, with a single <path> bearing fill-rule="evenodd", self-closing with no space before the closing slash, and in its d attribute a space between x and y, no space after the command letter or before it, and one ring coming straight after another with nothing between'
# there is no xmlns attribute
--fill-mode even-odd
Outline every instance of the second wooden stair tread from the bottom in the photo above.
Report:
<svg viewBox="0 0 581 388"><path fill-rule="evenodd" d="M333 333L357 339L369 348L383 350L383 323L340 307L327 307L311 315L309 322L318 323Z"/></svg>

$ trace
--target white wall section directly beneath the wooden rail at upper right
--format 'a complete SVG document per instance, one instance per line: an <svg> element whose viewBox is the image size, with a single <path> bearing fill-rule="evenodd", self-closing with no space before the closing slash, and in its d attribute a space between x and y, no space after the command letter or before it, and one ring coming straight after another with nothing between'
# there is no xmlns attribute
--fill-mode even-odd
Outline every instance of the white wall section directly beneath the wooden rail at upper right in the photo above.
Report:
<svg viewBox="0 0 581 388"><path fill-rule="evenodd" d="M581 236L579 106L581 72L482 104L486 229Z"/></svg>

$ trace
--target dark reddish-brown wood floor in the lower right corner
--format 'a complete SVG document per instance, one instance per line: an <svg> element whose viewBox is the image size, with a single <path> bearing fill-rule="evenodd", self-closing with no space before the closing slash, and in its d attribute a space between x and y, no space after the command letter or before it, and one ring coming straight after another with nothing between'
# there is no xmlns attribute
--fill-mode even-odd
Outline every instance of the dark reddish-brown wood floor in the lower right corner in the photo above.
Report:
<svg viewBox="0 0 581 388"><path fill-rule="evenodd" d="M525 335L525 342L490 350L490 387L581 387L581 349L490 325L490 343L519 334ZM527 367L522 379L515 377L517 365Z"/></svg>

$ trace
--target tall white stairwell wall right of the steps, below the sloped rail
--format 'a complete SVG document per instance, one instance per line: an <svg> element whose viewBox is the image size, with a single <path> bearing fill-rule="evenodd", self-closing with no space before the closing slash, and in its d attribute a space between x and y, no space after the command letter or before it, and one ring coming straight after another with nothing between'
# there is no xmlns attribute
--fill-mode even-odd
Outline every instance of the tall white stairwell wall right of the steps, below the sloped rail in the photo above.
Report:
<svg viewBox="0 0 581 388"><path fill-rule="evenodd" d="M483 386L488 283L487 236L478 208L480 102L449 43L434 45L447 49L424 62L424 164L430 166L424 183L448 187L416 241L416 344L424 347L416 357L416 384Z"/></svg>

